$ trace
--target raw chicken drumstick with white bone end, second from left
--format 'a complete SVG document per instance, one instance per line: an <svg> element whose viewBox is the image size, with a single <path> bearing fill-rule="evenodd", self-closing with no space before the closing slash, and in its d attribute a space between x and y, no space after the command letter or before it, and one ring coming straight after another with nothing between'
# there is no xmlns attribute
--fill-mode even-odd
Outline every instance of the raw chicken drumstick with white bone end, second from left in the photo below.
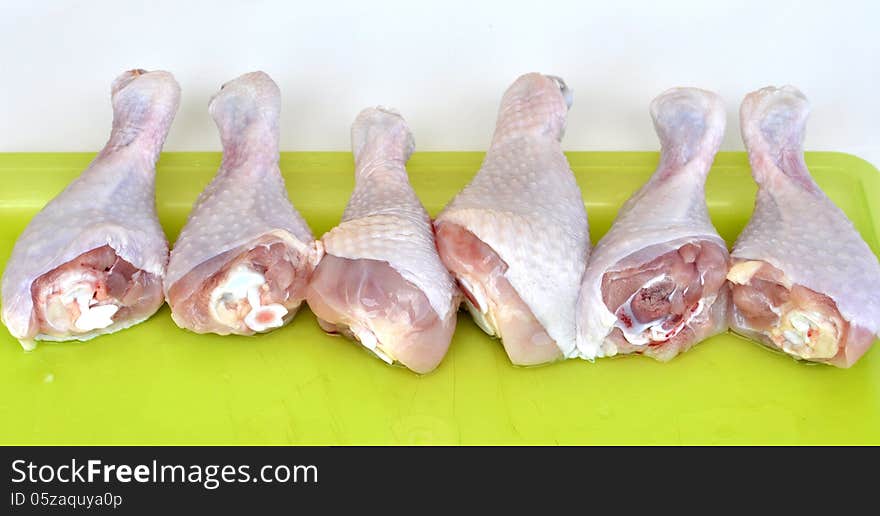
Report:
<svg viewBox="0 0 880 516"><path fill-rule="evenodd" d="M278 168L278 86L242 75L209 110L223 161L174 245L165 296L181 328L252 335L293 318L320 250Z"/></svg>

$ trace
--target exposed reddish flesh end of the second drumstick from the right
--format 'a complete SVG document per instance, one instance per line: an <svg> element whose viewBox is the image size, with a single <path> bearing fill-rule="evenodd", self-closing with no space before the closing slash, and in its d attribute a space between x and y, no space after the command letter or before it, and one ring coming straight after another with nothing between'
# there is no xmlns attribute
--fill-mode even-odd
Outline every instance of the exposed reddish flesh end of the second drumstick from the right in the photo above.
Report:
<svg viewBox="0 0 880 516"><path fill-rule="evenodd" d="M700 308L701 299L726 302L722 290L726 274L726 253L708 241L688 243L642 265L605 273L602 300L617 316L620 326L636 328L661 321L657 324L665 332L661 338L654 338L646 329L644 335L650 340L647 345L638 345L627 341L618 326L610 336L617 352L667 360L708 336L723 315L688 318ZM662 279L646 286L657 277ZM703 310L712 314L712 308L705 306Z"/></svg>

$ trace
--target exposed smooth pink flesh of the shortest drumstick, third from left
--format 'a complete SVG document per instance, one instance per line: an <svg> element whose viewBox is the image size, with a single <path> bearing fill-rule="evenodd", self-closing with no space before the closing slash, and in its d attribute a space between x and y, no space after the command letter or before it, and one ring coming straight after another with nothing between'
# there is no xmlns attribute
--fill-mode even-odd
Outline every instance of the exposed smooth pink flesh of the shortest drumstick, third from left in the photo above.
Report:
<svg viewBox="0 0 880 516"><path fill-rule="evenodd" d="M455 331L455 312L440 319L418 287L378 260L325 254L306 301L325 331L355 340L353 326L370 331L387 355L420 374L440 364Z"/></svg>

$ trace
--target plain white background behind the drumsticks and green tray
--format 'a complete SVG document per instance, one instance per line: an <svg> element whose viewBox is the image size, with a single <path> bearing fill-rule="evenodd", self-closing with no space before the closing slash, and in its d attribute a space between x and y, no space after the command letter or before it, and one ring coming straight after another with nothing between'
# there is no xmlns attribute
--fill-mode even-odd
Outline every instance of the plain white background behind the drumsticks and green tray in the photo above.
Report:
<svg viewBox="0 0 880 516"><path fill-rule="evenodd" d="M135 67L182 85L166 150L219 150L208 98L256 69L281 87L284 150L348 149L371 104L400 109L418 150L481 150L503 90L541 71L574 89L568 150L656 149L648 103L678 85L720 93L724 149L742 149L743 95L791 83L808 149L880 164L880 2L180 3L0 0L0 152L96 151Z"/></svg>

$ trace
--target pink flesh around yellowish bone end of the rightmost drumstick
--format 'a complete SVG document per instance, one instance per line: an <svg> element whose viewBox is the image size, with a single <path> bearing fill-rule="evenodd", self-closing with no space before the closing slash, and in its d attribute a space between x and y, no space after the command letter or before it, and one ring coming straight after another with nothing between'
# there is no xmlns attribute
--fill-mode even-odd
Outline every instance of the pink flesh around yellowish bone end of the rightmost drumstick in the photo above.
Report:
<svg viewBox="0 0 880 516"><path fill-rule="evenodd" d="M731 326L741 333L757 338L767 346L780 349L765 333L780 323L780 317L773 309L779 310L785 305L790 309L817 312L837 328L840 343L834 357L815 361L838 367L853 365L873 344L873 334L862 327L849 324L837 309L837 304L828 296L797 284L787 288L782 284L784 277L782 271L769 263L764 263L748 283L743 285L732 283ZM741 321L745 327L742 327L738 321Z"/></svg>

